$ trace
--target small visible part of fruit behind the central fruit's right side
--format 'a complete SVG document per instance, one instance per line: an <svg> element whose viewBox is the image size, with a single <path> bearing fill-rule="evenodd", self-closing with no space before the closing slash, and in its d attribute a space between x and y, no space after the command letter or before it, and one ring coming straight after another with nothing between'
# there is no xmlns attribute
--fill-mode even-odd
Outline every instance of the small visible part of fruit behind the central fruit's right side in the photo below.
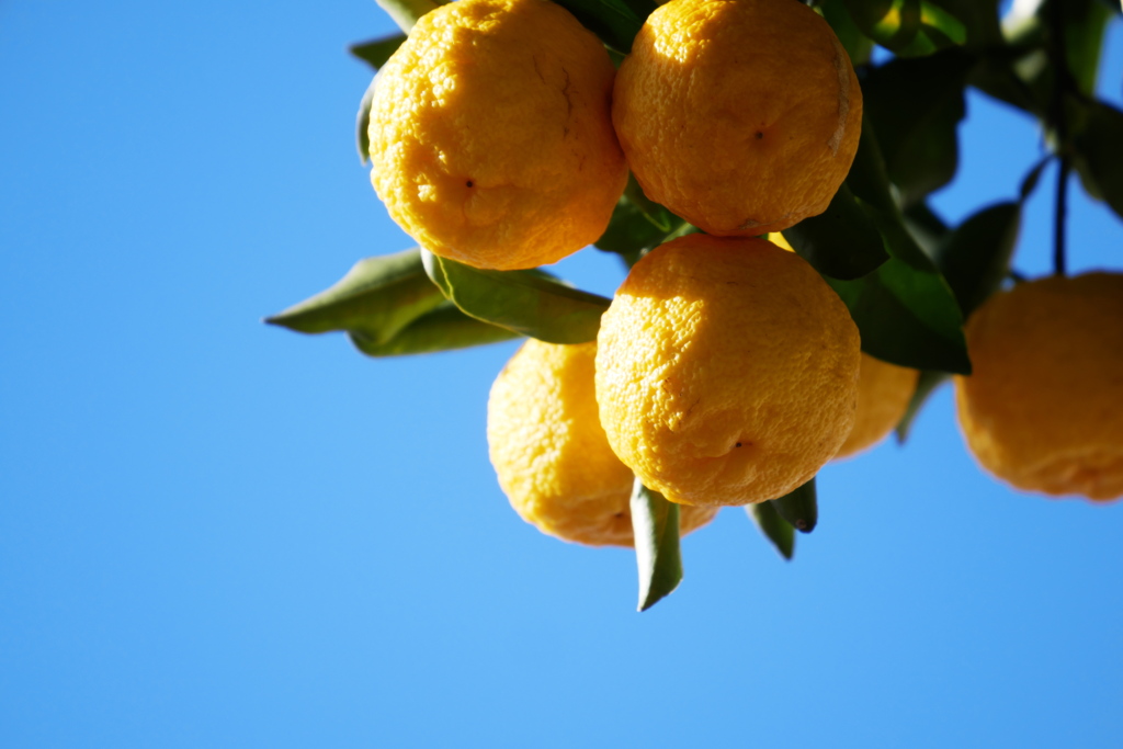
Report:
<svg viewBox="0 0 1123 749"><path fill-rule="evenodd" d="M916 390L920 372L861 355L858 367L858 410L853 429L842 442L838 458L861 453L880 442L900 423Z"/></svg>

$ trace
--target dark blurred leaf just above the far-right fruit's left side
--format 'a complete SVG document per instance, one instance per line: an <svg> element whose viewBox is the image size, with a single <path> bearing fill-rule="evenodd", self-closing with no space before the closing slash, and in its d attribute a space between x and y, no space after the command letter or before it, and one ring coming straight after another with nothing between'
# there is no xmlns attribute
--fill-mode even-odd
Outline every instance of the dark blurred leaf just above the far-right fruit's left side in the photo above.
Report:
<svg viewBox="0 0 1123 749"><path fill-rule="evenodd" d="M941 243L937 266L955 292L965 318L997 291L1006 277L1021 225L1020 203L998 203L973 214Z"/></svg>

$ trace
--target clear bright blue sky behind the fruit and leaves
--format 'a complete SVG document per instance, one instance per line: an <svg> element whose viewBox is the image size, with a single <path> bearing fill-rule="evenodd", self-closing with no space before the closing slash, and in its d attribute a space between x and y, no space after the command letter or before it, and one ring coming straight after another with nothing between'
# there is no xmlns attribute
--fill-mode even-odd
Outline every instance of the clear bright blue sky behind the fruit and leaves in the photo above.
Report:
<svg viewBox="0 0 1123 749"><path fill-rule="evenodd" d="M390 30L365 0L0 3L0 746L1120 746L1123 504L984 475L948 390L822 472L793 563L725 510L637 614L629 551L500 493L514 344L374 360L263 326L411 245L353 145L345 45ZM1102 71L1119 103L1119 21ZM1040 153L968 108L952 221ZM1072 268L1120 270L1123 222L1072 194Z"/></svg>

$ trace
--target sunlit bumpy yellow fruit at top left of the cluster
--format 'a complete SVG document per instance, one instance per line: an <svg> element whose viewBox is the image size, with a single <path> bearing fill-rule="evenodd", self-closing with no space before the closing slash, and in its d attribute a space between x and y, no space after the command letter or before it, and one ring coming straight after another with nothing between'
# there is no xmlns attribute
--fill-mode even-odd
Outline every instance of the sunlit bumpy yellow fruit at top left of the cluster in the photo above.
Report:
<svg viewBox="0 0 1123 749"><path fill-rule="evenodd" d="M628 167L604 46L546 0L460 0L426 13L380 72L371 181L442 257L528 268L596 240Z"/></svg>

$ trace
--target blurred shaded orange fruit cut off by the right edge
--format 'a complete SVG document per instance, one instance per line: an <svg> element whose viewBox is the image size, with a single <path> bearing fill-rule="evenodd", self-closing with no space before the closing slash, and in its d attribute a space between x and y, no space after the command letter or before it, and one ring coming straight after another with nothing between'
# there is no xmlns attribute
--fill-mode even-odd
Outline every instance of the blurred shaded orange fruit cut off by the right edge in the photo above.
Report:
<svg viewBox="0 0 1123 749"><path fill-rule="evenodd" d="M1023 283L968 320L959 424L984 468L1017 488L1123 495L1123 275Z"/></svg>

